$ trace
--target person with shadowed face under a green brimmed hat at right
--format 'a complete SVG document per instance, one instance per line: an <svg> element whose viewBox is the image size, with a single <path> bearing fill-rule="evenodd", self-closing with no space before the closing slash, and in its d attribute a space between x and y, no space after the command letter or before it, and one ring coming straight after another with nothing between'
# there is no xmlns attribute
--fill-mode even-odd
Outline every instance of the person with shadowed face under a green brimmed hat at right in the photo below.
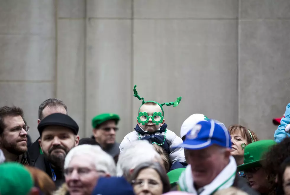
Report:
<svg viewBox="0 0 290 195"><path fill-rule="evenodd" d="M260 194L268 194L271 190L262 164L266 160L266 153L275 144L274 140L260 140L247 145L244 150L244 164L237 168L237 171L244 171L251 188Z"/></svg>

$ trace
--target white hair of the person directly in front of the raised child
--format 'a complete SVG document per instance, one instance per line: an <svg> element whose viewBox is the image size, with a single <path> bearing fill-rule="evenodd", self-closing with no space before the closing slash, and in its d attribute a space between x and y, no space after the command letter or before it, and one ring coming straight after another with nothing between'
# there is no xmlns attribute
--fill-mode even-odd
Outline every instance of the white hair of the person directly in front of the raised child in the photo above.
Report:
<svg viewBox="0 0 290 195"><path fill-rule="evenodd" d="M134 168L146 162L158 162L163 166L161 156L147 140L131 142L119 155L117 176L123 176L128 180Z"/></svg>

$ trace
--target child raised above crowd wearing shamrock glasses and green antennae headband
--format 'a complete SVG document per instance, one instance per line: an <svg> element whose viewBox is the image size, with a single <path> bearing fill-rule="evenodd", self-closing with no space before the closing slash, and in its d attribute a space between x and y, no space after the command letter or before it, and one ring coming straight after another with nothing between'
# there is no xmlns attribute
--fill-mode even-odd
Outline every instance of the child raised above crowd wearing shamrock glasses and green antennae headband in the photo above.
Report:
<svg viewBox="0 0 290 195"><path fill-rule="evenodd" d="M178 144L183 143L182 139L178 137L173 131L167 129L167 124L165 124L163 105L173 105L177 106L181 101L181 97L177 98L175 102L170 103L157 103L154 101L144 101L144 98L140 98L136 91L136 85L134 87L134 96L139 100L142 100L142 105L139 108L139 115L137 117L137 125L135 131L127 134L120 144L120 153L126 148L130 142L146 139L152 144L157 144L161 146L169 155L170 161L174 163L182 163L179 167L183 167L183 162L185 162L184 150L183 148L175 148ZM140 148L144 150L144 148ZM186 165L185 165L186 166Z"/></svg>

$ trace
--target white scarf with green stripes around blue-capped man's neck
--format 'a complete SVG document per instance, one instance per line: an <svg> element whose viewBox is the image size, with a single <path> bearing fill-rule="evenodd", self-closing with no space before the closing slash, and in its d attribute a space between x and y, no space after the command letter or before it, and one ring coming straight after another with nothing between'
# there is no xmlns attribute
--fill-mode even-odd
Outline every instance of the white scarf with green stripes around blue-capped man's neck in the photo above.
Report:
<svg viewBox="0 0 290 195"><path fill-rule="evenodd" d="M218 174L218 176L206 186L203 187L203 191L199 195L210 195L216 191L229 188L233 185L236 177L237 164L234 157L230 156L230 163ZM191 173L191 166L188 165L181 174L178 185L181 191L191 192L198 194L194 189L194 179Z"/></svg>

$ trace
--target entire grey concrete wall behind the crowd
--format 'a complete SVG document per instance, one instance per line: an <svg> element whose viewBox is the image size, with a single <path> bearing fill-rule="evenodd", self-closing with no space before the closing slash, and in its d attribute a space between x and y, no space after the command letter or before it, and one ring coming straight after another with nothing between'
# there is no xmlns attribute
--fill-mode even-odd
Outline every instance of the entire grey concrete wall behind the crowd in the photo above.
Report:
<svg viewBox="0 0 290 195"><path fill-rule="evenodd" d="M42 2L42 1L41 1ZM91 135L91 118L133 130L141 102L166 107L168 129L203 113L272 138L289 103L287 0L0 0L0 106L19 105L36 130L39 104L62 99Z"/></svg>

